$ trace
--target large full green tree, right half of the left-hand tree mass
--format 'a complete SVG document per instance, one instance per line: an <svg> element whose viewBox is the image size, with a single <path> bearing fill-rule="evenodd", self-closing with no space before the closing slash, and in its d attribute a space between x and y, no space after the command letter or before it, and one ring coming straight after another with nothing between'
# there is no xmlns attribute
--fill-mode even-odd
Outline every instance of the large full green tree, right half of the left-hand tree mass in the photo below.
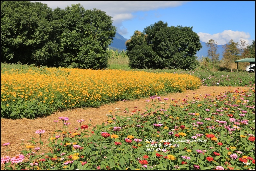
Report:
<svg viewBox="0 0 256 171"><path fill-rule="evenodd" d="M81 4L66 7L60 36L61 65L85 69L107 68L110 56L107 48L116 32L111 19L101 10L84 10Z"/></svg>

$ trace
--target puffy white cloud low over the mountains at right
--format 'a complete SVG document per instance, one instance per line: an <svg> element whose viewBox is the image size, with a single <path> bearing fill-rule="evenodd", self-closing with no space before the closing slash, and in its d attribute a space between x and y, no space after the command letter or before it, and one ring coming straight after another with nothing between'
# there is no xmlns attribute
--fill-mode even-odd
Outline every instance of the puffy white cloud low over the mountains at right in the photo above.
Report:
<svg viewBox="0 0 256 171"><path fill-rule="evenodd" d="M234 40L234 42L239 42L240 39L244 40L246 44L251 44L251 36L249 33L245 33L243 31L232 31L232 30L224 30L221 33L216 34L209 34L209 33L197 33L200 36L200 40L202 42L208 42L209 39L213 39L215 42L217 42L218 45L225 45L227 44L231 39Z"/></svg>

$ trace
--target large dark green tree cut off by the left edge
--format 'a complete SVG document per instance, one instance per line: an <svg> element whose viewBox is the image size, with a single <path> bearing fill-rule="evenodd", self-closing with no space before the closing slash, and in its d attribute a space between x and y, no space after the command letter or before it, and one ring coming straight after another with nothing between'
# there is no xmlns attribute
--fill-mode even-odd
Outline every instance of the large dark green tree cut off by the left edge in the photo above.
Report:
<svg viewBox="0 0 256 171"><path fill-rule="evenodd" d="M51 8L39 2L1 1L2 62L47 64L57 51Z"/></svg>

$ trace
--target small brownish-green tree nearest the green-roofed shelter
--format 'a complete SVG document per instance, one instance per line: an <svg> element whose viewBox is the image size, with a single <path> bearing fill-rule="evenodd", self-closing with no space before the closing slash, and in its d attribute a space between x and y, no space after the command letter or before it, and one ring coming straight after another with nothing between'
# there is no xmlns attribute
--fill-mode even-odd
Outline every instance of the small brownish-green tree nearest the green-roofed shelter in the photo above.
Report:
<svg viewBox="0 0 256 171"><path fill-rule="evenodd" d="M223 61L227 67L231 69L235 67L235 61L240 57L240 49L238 48L238 42L234 42L232 39L228 44L224 45Z"/></svg>

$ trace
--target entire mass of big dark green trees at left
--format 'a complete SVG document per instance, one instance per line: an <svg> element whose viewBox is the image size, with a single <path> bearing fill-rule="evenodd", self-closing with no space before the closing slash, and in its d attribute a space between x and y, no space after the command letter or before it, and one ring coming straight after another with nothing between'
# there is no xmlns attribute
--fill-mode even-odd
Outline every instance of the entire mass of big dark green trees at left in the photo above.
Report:
<svg viewBox="0 0 256 171"><path fill-rule="evenodd" d="M29 1L1 1L2 62L107 68L112 17L81 4L52 10Z"/></svg>

